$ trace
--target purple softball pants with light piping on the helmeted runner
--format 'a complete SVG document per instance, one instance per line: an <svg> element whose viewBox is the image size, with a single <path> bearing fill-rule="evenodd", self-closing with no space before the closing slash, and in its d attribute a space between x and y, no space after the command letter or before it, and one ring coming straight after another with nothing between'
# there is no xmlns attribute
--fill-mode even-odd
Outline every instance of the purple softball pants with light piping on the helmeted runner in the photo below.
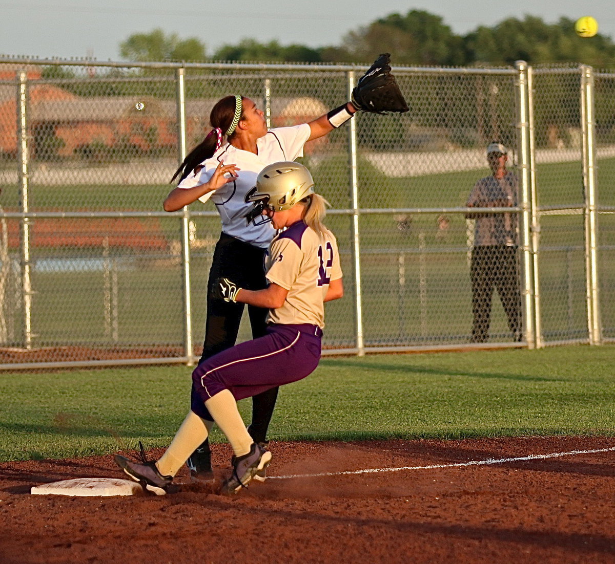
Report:
<svg viewBox="0 0 615 564"><path fill-rule="evenodd" d="M192 372L191 410L212 421L205 401L222 390L239 400L305 378L318 366L320 337L317 325L272 324L264 337L215 354Z"/></svg>

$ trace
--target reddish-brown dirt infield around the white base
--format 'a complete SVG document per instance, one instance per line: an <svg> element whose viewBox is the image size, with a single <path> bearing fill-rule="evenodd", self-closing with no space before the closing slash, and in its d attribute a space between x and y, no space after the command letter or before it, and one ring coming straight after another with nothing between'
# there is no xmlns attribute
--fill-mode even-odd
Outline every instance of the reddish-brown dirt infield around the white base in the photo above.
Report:
<svg viewBox="0 0 615 564"><path fill-rule="evenodd" d="M615 562L614 446L600 437L272 442L269 475L282 478L233 498L189 484L185 469L167 496L33 496L44 482L121 474L111 456L1 463L0 562ZM226 468L228 445L214 448ZM564 454L588 450L602 452ZM339 473L367 469L381 471Z"/></svg>

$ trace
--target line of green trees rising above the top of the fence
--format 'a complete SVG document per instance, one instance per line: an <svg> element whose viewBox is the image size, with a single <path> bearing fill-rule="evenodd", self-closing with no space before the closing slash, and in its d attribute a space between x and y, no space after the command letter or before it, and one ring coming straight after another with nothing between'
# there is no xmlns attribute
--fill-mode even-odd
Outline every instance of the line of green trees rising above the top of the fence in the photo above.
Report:
<svg viewBox="0 0 615 564"><path fill-rule="evenodd" d="M494 66L525 60L530 65L585 63L597 68L615 66L615 44L598 33L582 38L574 32L574 21L562 17L546 23L526 15L522 20L506 18L492 27L478 26L470 33L454 34L443 18L424 10L389 14L350 31L339 45L307 47L261 43L242 39L223 45L208 55L207 45L197 39L181 39L162 29L138 33L119 45L122 58L132 61L268 61L304 63L368 63L379 53L393 53L396 65Z"/></svg>

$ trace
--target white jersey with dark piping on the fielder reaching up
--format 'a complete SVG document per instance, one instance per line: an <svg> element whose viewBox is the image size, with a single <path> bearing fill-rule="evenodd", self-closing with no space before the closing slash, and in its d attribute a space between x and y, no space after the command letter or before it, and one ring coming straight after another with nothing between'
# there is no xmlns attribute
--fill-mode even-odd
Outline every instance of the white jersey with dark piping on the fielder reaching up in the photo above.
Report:
<svg viewBox="0 0 615 564"><path fill-rule="evenodd" d="M202 169L196 174L188 174L178 188L192 188L205 184L212 178L216 166L223 161L225 165L236 164L239 176L218 190L200 197L203 203L211 198L222 220L222 231L255 247L266 248L276 234L271 223L262 225L247 224L245 214L252 210L252 203L245 202L245 195L256 186L256 176L271 163L295 160L303 157L303 146L311 135L308 123L293 127L279 127L269 130L256 140L258 155L242 151L231 144L224 144L205 160Z"/></svg>

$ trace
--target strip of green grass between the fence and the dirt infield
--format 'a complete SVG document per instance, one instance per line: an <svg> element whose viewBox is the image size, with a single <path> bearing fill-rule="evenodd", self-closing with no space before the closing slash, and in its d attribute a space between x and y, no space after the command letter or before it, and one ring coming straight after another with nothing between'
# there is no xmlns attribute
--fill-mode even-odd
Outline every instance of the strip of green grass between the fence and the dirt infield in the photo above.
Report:
<svg viewBox="0 0 615 564"><path fill-rule="evenodd" d="M615 347L324 358L280 391L270 436L358 440L615 436ZM0 376L0 461L169 443L185 366ZM250 401L240 402L247 418ZM217 431L212 440L223 441Z"/></svg>

